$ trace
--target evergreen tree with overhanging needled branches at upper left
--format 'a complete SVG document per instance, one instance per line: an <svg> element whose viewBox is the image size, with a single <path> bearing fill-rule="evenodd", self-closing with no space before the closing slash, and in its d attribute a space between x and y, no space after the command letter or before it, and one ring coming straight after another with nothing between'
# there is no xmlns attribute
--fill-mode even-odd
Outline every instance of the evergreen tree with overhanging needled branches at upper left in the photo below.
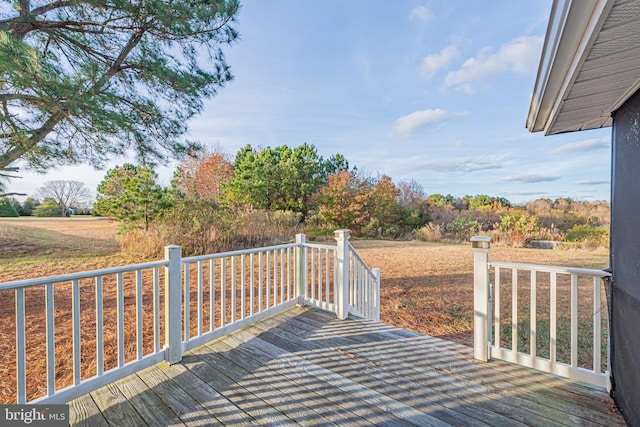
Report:
<svg viewBox="0 0 640 427"><path fill-rule="evenodd" d="M231 80L237 0L35 1L0 9L0 170L179 156Z"/></svg>

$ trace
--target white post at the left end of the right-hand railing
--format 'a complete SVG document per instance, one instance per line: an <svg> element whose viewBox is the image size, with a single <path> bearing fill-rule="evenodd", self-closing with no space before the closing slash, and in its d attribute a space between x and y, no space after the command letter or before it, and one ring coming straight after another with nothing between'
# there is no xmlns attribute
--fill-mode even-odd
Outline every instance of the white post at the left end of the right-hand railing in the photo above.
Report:
<svg viewBox="0 0 640 427"><path fill-rule="evenodd" d="M489 360L489 251L491 237L471 238L473 251L473 357Z"/></svg>

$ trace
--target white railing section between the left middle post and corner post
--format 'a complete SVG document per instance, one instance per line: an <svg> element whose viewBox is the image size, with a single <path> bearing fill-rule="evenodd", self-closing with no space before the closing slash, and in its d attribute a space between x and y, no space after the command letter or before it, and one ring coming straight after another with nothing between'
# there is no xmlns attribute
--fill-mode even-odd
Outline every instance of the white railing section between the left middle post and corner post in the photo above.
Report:
<svg viewBox="0 0 640 427"><path fill-rule="evenodd" d="M291 243L183 258L182 351L299 303L297 249Z"/></svg>

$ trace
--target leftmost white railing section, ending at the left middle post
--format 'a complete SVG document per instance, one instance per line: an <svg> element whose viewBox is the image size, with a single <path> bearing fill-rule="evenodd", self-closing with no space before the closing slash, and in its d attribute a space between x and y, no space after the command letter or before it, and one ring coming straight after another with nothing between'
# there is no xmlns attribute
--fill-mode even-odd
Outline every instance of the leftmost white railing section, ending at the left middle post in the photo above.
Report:
<svg viewBox="0 0 640 427"><path fill-rule="evenodd" d="M159 283L160 267L166 270L167 266L167 261L157 261L0 284L2 294L14 292L16 403L27 402L27 349L42 344L39 340L43 335L42 323L39 320L43 317L46 350L39 354L46 360L46 396L52 403L61 401L71 389L81 395L163 360L164 352L160 348ZM143 281L148 283L147 293L151 293L153 312L147 322L152 330L152 345L147 346L143 343L143 329L146 326L143 325ZM28 305L25 303L27 297ZM125 304L125 298L133 299L133 304ZM37 310L38 302L42 307L43 299L43 309ZM70 319L56 316L58 305L71 306ZM125 309L128 313L125 313ZM91 314L87 315L89 311ZM125 317L129 322L125 321ZM129 323L132 323L132 318L134 331L127 336L125 331L131 330ZM115 338L105 337L105 327L115 332ZM94 334L94 350L91 351L90 343L83 338ZM110 334L110 337L113 336L113 333ZM66 354L56 357L57 344L64 345L69 337L72 344L71 366L68 366L69 357ZM125 358L125 346L131 345L135 347L135 354ZM116 357L108 360L105 350L114 346ZM86 367L83 369L81 363L83 359L92 357L96 361L93 374ZM34 356L31 355L29 359L34 359ZM71 385L57 389L56 376L64 371L71 372Z"/></svg>

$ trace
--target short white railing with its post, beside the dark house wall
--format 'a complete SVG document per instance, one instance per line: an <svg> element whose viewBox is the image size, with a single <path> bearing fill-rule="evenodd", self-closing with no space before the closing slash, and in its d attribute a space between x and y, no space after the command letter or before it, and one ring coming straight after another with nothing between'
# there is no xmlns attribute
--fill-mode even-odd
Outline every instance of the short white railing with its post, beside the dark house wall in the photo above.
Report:
<svg viewBox="0 0 640 427"><path fill-rule="evenodd" d="M472 238L472 247L474 357L506 360L609 390L603 295L611 274L489 261L488 237Z"/></svg>

